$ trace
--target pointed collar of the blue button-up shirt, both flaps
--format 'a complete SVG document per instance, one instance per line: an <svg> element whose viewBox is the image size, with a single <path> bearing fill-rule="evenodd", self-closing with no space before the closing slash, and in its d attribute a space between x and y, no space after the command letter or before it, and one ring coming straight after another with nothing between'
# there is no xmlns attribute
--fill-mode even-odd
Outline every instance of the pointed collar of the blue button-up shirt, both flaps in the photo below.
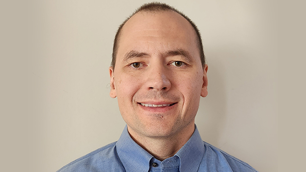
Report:
<svg viewBox="0 0 306 172"><path fill-rule="evenodd" d="M118 156L127 172L149 171L153 155L141 148L131 138L127 126L117 141L116 147ZM195 125L195 131L188 142L175 154L180 159L180 172L197 172L203 155L204 143Z"/></svg>

